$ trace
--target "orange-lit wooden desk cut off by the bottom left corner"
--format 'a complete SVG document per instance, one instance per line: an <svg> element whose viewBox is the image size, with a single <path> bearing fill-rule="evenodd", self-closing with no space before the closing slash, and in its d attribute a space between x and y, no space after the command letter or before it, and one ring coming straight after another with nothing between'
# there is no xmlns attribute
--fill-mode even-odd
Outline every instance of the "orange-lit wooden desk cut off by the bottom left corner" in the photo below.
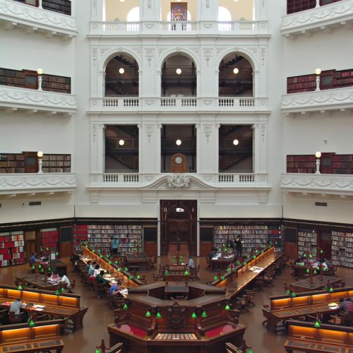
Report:
<svg viewBox="0 0 353 353"><path fill-rule="evenodd" d="M61 352L61 320L38 321L35 327L28 323L0 326L0 353Z"/></svg>

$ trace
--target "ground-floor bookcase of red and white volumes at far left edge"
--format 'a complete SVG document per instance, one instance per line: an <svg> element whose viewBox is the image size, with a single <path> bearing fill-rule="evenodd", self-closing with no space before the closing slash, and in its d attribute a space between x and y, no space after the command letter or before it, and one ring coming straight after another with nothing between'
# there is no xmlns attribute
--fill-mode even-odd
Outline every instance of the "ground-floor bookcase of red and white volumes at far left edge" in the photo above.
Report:
<svg viewBox="0 0 353 353"><path fill-rule="evenodd" d="M0 267L25 263L25 235L22 230L0 233Z"/></svg>

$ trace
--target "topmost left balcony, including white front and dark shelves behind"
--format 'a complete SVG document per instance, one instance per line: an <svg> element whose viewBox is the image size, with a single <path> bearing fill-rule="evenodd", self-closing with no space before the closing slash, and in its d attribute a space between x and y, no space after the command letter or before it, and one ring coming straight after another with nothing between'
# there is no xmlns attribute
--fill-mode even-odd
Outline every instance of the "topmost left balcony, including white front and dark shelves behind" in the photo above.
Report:
<svg viewBox="0 0 353 353"><path fill-rule="evenodd" d="M61 5L62 2L65 4ZM23 28L27 33L42 32L47 37L55 35L64 40L76 37L78 31L76 18L71 16L71 1L61 1L60 4L58 1L57 6L54 3L0 0L0 22L4 23L6 30Z"/></svg>

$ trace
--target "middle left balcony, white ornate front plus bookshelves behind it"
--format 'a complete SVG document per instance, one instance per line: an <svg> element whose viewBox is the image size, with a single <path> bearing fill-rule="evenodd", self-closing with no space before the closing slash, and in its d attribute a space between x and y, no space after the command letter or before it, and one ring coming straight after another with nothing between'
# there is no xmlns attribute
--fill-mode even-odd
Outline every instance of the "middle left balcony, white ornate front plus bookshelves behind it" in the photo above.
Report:
<svg viewBox="0 0 353 353"><path fill-rule="evenodd" d="M76 96L71 95L71 78L0 68L0 109L7 113L71 115L77 109Z"/></svg>

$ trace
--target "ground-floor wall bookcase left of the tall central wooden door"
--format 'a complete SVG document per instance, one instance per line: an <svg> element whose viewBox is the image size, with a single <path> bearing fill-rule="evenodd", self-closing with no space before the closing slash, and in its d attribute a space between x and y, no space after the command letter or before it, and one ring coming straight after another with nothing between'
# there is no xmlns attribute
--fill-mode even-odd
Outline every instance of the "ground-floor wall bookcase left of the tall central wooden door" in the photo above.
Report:
<svg viewBox="0 0 353 353"><path fill-rule="evenodd" d="M88 243L103 252L110 253L111 238L118 239L118 253L124 256L139 246L143 251L142 225L88 225Z"/></svg>

